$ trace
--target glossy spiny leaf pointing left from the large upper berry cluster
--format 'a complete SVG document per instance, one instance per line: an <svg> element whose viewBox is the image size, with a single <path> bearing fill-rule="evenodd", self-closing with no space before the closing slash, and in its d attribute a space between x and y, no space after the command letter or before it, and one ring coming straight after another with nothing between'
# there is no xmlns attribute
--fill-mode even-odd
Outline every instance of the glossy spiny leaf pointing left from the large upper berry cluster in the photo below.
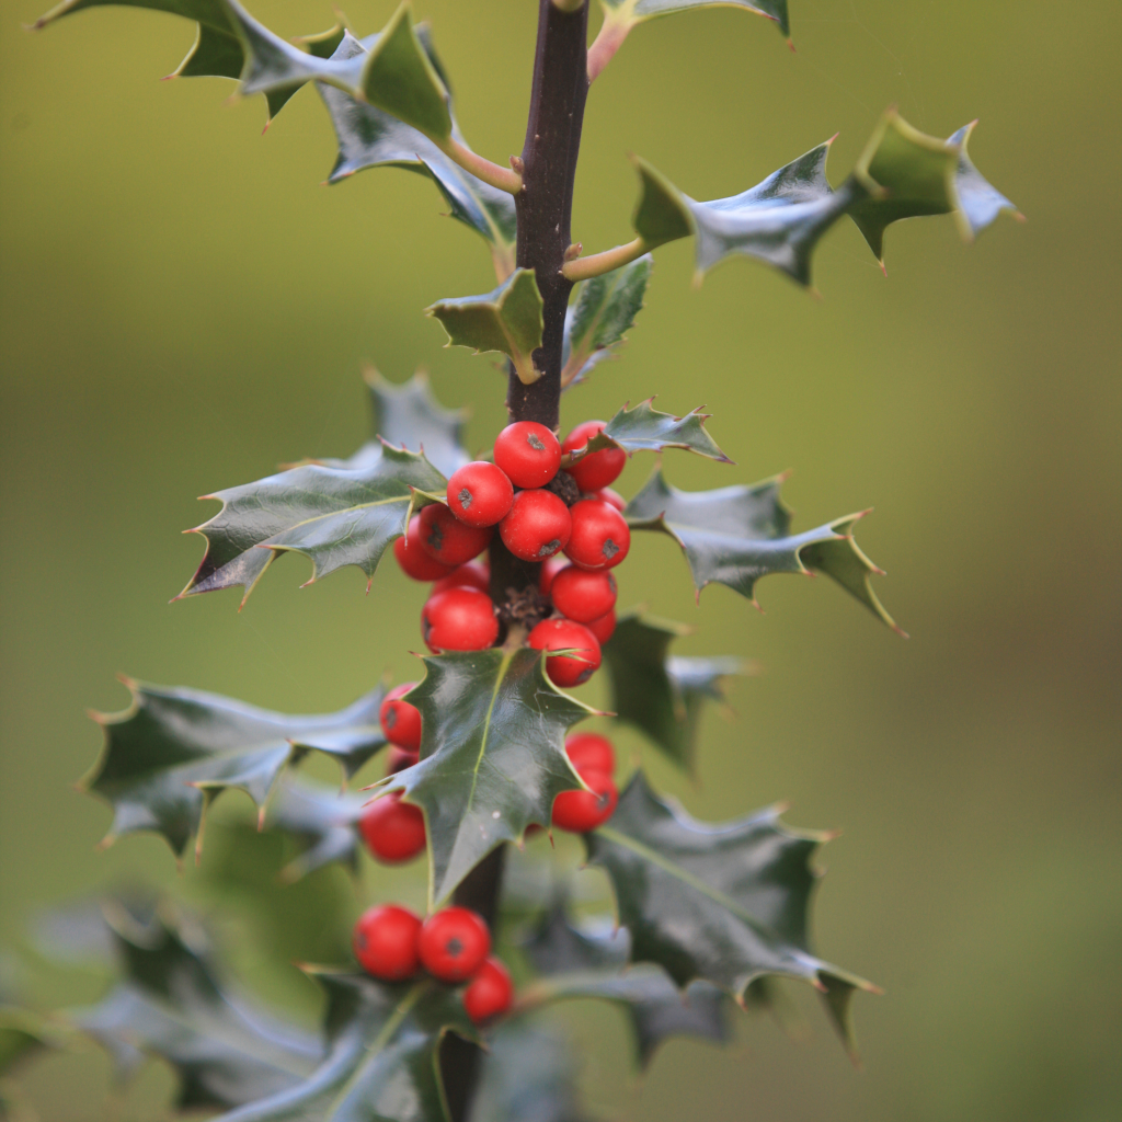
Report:
<svg viewBox="0 0 1122 1122"><path fill-rule="evenodd" d="M204 495L222 509L191 531L206 539L206 553L177 599L240 585L245 604L274 558L289 551L311 560L309 583L349 564L370 581L386 546L405 533L414 491L445 484L424 453L384 444L356 468L304 463Z"/></svg>

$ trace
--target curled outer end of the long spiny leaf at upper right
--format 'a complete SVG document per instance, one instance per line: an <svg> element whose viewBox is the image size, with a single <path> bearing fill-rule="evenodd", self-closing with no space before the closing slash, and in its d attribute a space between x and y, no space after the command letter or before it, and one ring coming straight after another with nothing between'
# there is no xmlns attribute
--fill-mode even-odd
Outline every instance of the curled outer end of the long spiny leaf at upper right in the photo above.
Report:
<svg viewBox="0 0 1122 1122"><path fill-rule="evenodd" d="M975 123L940 140L912 128L894 109L881 119L854 169L865 192L849 214L882 265L884 230L900 219L954 213L964 239L973 241L1003 210L1018 214L966 155Z"/></svg>

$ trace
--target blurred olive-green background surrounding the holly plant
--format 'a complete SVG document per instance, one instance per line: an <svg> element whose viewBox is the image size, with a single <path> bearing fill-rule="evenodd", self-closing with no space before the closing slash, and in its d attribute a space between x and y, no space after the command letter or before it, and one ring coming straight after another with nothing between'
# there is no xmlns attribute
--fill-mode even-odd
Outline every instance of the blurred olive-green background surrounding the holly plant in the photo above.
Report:
<svg viewBox="0 0 1122 1122"><path fill-rule="evenodd" d="M251 7L285 36L332 22L312 0ZM366 34L390 8L347 15ZM466 132L500 160L522 145L535 9L417 7ZM1119 11L791 9L795 54L732 9L634 33L589 100L587 249L629 236L628 151L707 199L840 130L837 183L890 103L940 136L980 117L975 162L1028 224L1003 219L972 249L949 219L893 227L888 280L840 224L817 255L821 301L743 260L695 292L692 247L668 247L623 358L567 396L563 423L654 393L705 404L738 466L668 456L680 486L793 468L799 528L875 505L858 540L909 642L826 580L765 581L766 615L721 587L696 607L673 544L638 542L622 601L696 624L679 653L763 674L733 683L735 720L707 719L696 787L619 743L698 816L789 799L789 821L842 827L817 949L886 995L857 1000L859 1074L802 991L806 1039L746 1019L725 1051L672 1041L641 1082L618 1014L571 1010L587 1089L634 1122L1118 1118ZM108 811L71 784L100 743L84 708L127 702L114 672L316 711L415 666L421 594L392 564L369 596L357 571L300 590L292 558L241 614L236 594L167 606L202 551L180 531L213 508L194 496L349 454L364 361L394 380L429 368L445 404L471 405L475 448L502 423L504 379L420 314L493 286L482 243L419 176L320 186L333 137L314 90L261 137L260 99L156 81L191 44L184 21L108 9L33 36L34 0L2 11L0 944L22 946L8 962L29 1000L66 1002L98 990L38 968L36 909L132 876L199 899L208 871L205 855L178 876L150 837L94 849ZM649 468L637 457L620 490ZM355 909L416 891L367 873ZM108 1072L89 1051L27 1086L45 1119L82 1122ZM169 1082L149 1072L121 1116L162 1116Z"/></svg>

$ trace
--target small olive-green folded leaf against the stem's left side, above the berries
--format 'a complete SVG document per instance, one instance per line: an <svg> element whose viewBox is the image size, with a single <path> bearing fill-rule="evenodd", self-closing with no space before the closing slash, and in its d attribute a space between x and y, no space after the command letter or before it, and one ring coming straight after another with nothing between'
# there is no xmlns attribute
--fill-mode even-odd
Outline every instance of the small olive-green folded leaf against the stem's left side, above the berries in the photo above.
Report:
<svg viewBox="0 0 1122 1122"><path fill-rule="evenodd" d="M477 355L506 355L525 384L536 381L533 352L542 346L542 294L533 269L515 269L486 296L442 300L425 313L440 320L448 347L470 347Z"/></svg>

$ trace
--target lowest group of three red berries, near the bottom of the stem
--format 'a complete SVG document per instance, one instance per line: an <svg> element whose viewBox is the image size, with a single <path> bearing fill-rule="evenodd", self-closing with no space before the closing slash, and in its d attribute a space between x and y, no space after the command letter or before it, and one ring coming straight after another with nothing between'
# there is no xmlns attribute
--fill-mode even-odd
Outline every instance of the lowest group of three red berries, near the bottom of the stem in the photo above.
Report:
<svg viewBox="0 0 1122 1122"><path fill-rule="evenodd" d="M449 985L467 982L463 1008L476 1024L511 1008L511 974L490 954L487 923L467 908L445 908L423 923L397 904L370 908L355 925L353 946L362 968L383 982L405 982L422 968Z"/></svg>

